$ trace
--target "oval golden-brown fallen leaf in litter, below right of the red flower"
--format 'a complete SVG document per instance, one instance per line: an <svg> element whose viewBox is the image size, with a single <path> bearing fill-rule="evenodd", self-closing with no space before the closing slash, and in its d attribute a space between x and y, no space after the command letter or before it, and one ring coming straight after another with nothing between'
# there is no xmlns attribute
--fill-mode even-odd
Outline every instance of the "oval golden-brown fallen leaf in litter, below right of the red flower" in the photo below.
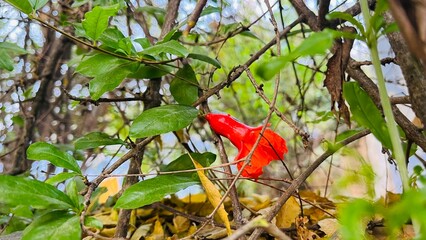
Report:
<svg viewBox="0 0 426 240"><path fill-rule="evenodd" d="M295 197L291 196L281 207L276 219L276 225L279 228L289 228L300 214L300 205Z"/></svg>

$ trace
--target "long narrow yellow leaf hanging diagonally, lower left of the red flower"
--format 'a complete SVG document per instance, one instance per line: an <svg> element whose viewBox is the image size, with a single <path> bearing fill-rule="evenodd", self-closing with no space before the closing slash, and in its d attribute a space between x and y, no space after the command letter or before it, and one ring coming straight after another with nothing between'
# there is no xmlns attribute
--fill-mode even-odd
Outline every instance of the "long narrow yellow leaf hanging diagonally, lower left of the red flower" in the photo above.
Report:
<svg viewBox="0 0 426 240"><path fill-rule="evenodd" d="M213 205L213 207L215 208L218 207L220 203L220 199L222 198L222 195L220 194L219 190L217 190L217 188L214 186L214 184L210 181L210 179L204 174L204 170L202 170L203 166L201 166L201 164L195 161L192 158L191 154L189 154L189 157L194 163L195 168L198 169L197 174L198 174L198 177L200 178L201 185L203 186L204 191L206 192L207 199L209 199L209 202ZM225 224L228 236L231 235L232 234L231 224L229 223L228 213L226 212L223 204L221 204L218 207L218 210L216 213Z"/></svg>

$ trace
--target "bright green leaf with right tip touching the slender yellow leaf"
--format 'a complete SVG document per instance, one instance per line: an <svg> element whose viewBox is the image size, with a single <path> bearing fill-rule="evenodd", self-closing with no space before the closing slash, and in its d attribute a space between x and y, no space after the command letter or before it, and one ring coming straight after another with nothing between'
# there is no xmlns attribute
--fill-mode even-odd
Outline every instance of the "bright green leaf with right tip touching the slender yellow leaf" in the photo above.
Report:
<svg viewBox="0 0 426 240"><path fill-rule="evenodd" d="M169 194L176 193L199 181L175 175L160 175L144 180L126 189L117 200L115 208L134 209L158 202Z"/></svg>

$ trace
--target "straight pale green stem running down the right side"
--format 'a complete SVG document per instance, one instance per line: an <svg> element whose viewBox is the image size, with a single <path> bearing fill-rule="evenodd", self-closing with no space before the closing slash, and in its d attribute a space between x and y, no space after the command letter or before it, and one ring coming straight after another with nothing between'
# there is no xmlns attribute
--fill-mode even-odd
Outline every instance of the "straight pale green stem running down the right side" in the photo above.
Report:
<svg viewBox="0 0 426 240"><path fill-rule="evenodd" d="M361 0L361 10L366 25L366 37L367 45L371 52L371 61L376 72L377 84L379 87L380 101L382 104L383 112L386 118L386 125L389 130L389 135L392 141L393 154L395 156L396 164L398 165L399 173L401 175L401 181L404 191L410 188L407 166L405 163L405 156L402 150L401 138L399 136L398 128L396 127L395 118L392 112L392 106L389 100L389 96L386 90L386 84L383 77L382 67L379 58L379 52L377 50L377 34L374 28L370 24L370 9L368 8L367 0Z"/></svg>

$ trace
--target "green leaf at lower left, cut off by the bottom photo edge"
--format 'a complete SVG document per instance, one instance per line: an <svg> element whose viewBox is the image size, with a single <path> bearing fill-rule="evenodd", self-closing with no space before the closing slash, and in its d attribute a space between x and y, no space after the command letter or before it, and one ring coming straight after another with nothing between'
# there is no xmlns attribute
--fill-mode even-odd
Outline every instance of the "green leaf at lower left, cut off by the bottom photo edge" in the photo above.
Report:
<svg viewBox="0 0 426 240"><path fill-rule="evenodd" d="M52 211L36 218L24 231L22 240L79 240L80 217L66 211Z"/></svg>

